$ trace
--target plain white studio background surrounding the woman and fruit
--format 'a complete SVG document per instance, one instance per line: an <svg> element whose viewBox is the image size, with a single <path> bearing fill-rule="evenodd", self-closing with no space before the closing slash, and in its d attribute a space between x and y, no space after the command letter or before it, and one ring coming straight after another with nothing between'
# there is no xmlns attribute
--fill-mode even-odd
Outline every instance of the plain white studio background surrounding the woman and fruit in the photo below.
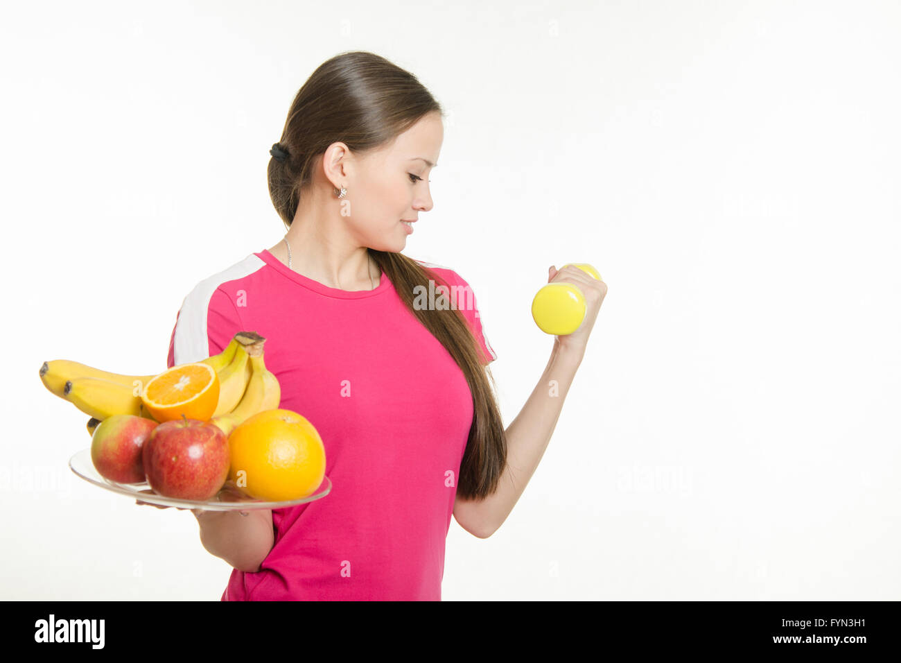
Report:
<svg viewBox="0 0 901 663"><path fill-rule="evenodd" d="M442 598L897 599L896 2L34 2L0 31L0 598L219 599L190 512L69 471L87 417L37 372L164 369L187 292L284 235L296 90L367 50L451 114L405 253L472 285L505 424L549 265L609 288L510 517L451 523Z"/></svg>

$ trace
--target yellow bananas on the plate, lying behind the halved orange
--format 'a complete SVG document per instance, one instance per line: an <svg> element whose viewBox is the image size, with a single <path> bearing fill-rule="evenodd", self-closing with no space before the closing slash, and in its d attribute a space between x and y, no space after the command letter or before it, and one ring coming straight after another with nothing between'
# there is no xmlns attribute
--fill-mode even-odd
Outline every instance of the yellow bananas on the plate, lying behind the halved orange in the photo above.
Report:
<svg viewBox="0 0 901 663"><path fill-rule="evenodd" d="M219 378L219 402L214 417L234 415L229 419L231 421L239 419L242 412L250 411L252 398L243 407L241 403L244 401L245 391L251 382L254 382L254 366L262 364L262 343L265 340L255 332L238 332L221 353L201 360L204 364L209 364ZM254 362L249 354L250 348L256 348L253 352L259 354L258 361ZM256 374L263 375L269 384L275 382L278 388L275 375L268 373L271 377L266 377L264 373L268 373L265 365ZM141 394L145 385L156 375L110 373L68 359L44 362L41 364L39 375L50 393L69 401L78 410L90 415L87 430L92 435L100 421L114 414L131 414L153 419L141 401ZM257 387L254 387L254 390L257 390ZM271 391L270 384L268 392ZM277 403L279 399L280 391L276 398ZM271 398L264 401L270 400Z"/></svg>

